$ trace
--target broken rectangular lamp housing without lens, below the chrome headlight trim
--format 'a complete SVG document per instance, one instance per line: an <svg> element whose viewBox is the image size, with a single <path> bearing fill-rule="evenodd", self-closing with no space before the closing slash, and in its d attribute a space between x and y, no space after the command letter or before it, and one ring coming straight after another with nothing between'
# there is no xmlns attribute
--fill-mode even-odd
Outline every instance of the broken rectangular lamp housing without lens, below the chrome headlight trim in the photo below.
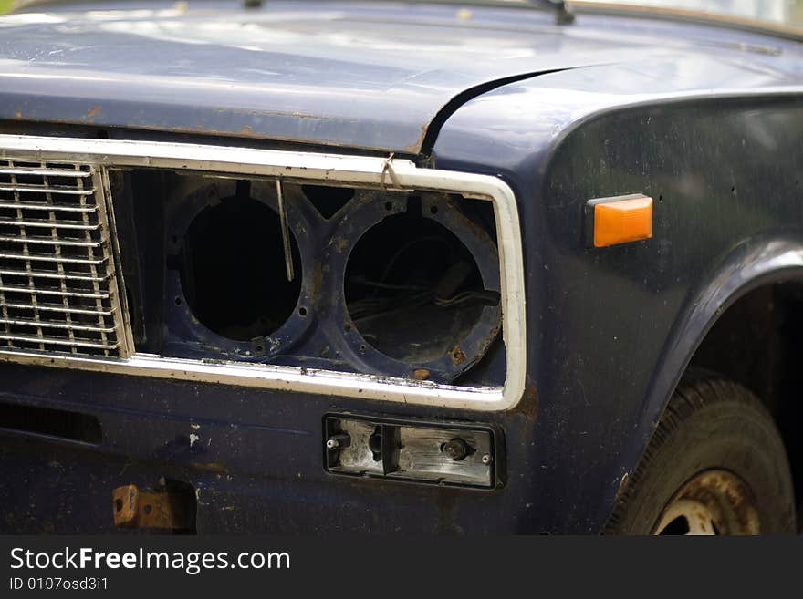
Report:
<svg viewBox="0 0 803 599"><path fill-rule="evenodd" d="M503 484L504 438L494 424L328 414L332 474L495 489Z"/></svg>

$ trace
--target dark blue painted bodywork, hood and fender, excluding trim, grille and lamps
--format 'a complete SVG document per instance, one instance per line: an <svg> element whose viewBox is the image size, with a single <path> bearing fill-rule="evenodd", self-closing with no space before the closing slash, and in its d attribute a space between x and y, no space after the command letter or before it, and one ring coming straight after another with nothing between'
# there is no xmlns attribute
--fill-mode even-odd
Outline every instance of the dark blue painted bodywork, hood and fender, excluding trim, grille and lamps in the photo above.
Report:
<svg viewBox="0 0 803 599"><path fill-rule="evenodd" d="M279 4L203 6L116 17L113 31L86 19L6 28L0 115L164 139L247 127L415 153L465 89L581 67L453 106L433 146L435 166L500 176L519 201L527 397L480 418L505 431L506 485L433 489L323 470L330 410L477 419L459 410L4 365L5 399L80 408L105 439L70 449L5 435L5 480L20 482L0 486L0 504L17 506L0 528L110 532L113 487L169 476L199 489L200 532L599 532L720 311L755 284L803 273L800 46L620 17L560 28L513 9L461 23L441 6L328 4L303 17ZM245 20L258 36L219 25ZM185 26L197 43L181 41ZM100 80L57 78L77 75ZM656 200L652 240L586 248L584 202L634 191Z"/></svg>

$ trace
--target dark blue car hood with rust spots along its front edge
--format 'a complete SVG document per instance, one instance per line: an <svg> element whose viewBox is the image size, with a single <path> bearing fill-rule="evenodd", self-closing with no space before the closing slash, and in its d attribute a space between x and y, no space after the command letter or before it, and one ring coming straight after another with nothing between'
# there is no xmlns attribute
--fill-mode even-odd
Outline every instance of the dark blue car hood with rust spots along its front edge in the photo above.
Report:
<svg viewBox="0 0 803 599"><path fill-rule="evenodd" d="M454 106L512 78L694 46L556 26L537 10L93 6L0 18L0 119L416 154Z"/></svg>

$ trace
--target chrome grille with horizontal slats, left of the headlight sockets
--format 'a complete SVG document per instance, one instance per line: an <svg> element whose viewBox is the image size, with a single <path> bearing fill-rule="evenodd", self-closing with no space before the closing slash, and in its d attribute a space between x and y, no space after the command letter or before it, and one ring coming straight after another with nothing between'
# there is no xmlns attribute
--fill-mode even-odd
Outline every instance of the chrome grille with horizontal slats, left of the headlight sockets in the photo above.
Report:
<svg viewBox="0 0 803 599"><path fill-rule="evenodd" d="M101 188L88 164L0 160L0 349L123 355Z"/></svg>

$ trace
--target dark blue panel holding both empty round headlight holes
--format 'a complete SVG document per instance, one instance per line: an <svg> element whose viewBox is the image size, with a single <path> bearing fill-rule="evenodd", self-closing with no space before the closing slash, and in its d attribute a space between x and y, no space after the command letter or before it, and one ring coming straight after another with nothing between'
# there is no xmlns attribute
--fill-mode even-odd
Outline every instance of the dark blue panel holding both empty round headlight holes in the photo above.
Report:
<svg viewBox="0 0 803 599"><path fill-rule="evenodd" d="M154 353L433 384L498 356L501 279L486 202L349 188L323 206L337 188L286 181L288 282L275 178L171 176ZM474 371L479 384L501 385L501 354L501 366L493 357Z"/></svg>

